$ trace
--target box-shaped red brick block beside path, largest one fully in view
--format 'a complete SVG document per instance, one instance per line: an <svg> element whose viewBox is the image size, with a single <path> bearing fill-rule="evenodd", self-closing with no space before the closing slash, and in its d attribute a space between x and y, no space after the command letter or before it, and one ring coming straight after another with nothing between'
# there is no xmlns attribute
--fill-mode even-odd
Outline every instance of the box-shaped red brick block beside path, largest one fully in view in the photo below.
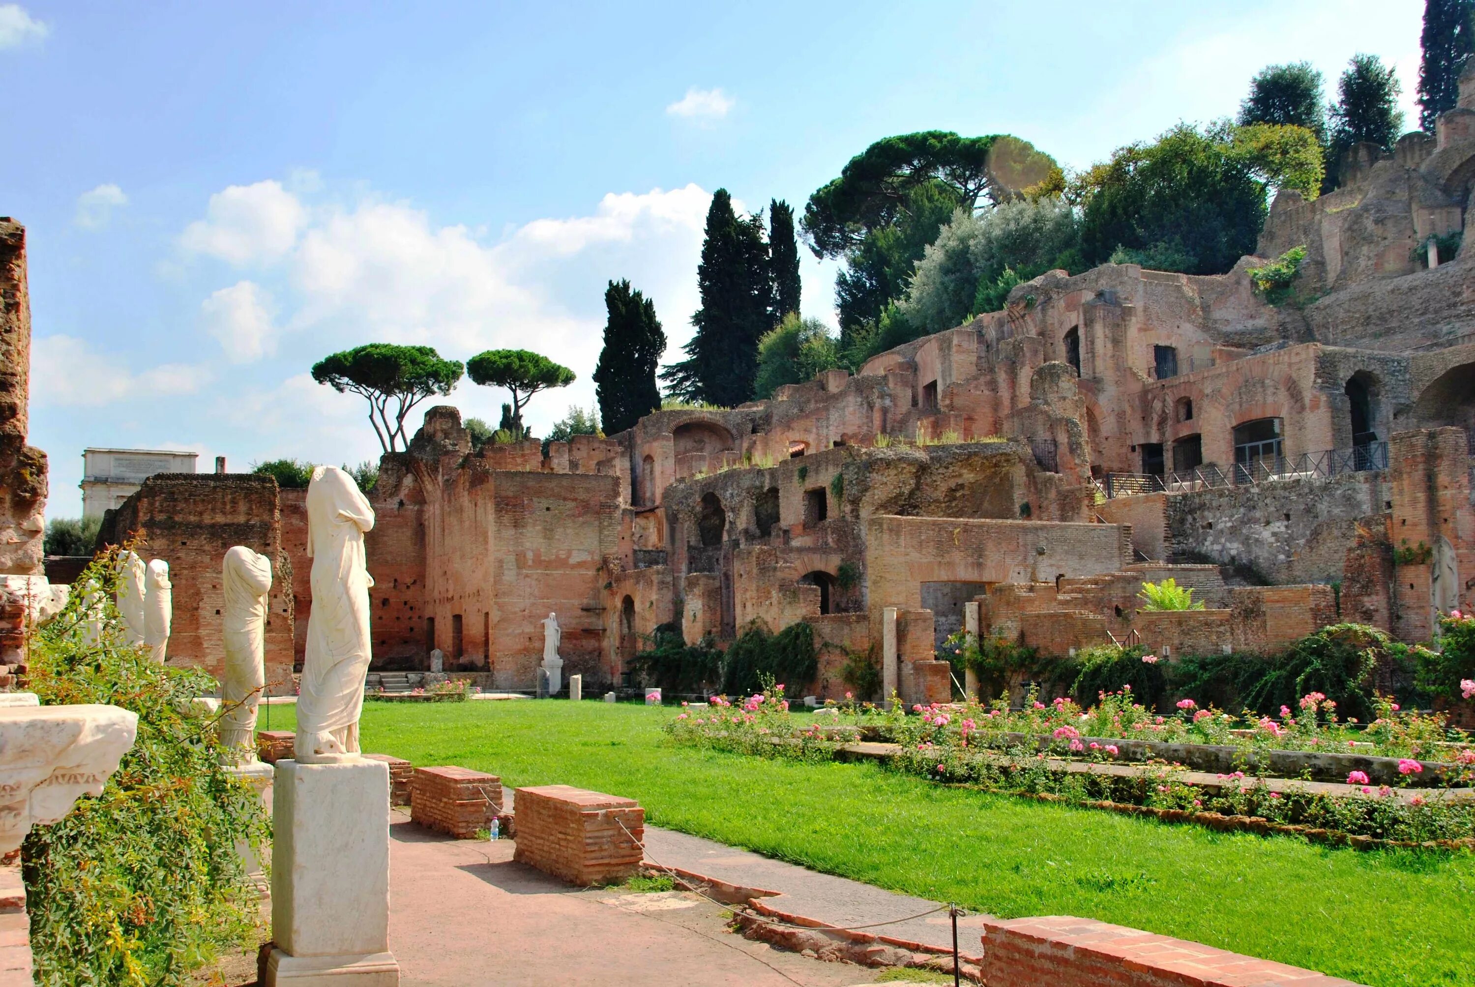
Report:
<svg viewBox="0 0 1475 987"><path fill-rule="evenodd" d="M571 884L618 884L640 869L645 810L569 785L519 788L513 860ZM628 831L628 832L625 832Z"/></svg>

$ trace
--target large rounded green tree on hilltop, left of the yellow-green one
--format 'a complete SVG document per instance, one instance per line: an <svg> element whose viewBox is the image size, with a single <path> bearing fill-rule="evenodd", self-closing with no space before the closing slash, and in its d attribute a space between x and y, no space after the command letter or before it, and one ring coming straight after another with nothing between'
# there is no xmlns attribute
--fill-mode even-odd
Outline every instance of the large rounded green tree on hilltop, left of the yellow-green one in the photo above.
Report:
<svg viewBox="0 0 1475 987"><path fill-rule="evenodd" d="M1180 124L1150 145L1121 148L1086 196L1087 263L1142 251L1171 258L1165 270L1223 274L1255 249L1266 183L1196 128Z"/></svg>

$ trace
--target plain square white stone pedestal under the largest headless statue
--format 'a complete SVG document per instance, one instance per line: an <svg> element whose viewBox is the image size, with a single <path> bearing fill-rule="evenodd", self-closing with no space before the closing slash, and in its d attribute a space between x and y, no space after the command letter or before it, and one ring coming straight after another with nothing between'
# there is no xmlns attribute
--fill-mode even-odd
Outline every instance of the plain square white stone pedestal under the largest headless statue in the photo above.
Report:
<svg viewBox="0 0 1475 987"><path fill-rule="evenodd" d="M263 987L398 987L389 952L389 767L276 764Z"/></svg>

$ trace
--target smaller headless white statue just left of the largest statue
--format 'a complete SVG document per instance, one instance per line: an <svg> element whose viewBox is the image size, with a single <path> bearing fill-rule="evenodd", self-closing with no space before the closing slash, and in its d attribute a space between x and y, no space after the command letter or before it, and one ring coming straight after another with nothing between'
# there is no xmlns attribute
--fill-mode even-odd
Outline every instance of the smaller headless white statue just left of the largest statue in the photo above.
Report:
<svg viewBox="0 0 1475 987"><path fill-rule="evenodd" d="M226 552L220 589L226 596L226 673L220 682L224 716L220 742L236 761L257 760L257 704L267 683L266 623L271 592L271 561L237 544Z"/></svg>

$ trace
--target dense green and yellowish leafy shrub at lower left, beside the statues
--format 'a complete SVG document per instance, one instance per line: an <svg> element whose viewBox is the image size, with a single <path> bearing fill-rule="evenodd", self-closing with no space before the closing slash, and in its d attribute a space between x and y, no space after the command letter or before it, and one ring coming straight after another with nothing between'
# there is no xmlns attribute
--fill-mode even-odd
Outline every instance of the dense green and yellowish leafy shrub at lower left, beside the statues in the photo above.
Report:
<svg viewBox="0 0 1475 987"><path fill-rule="evenodd" d="M81 798L22 848L35 983L193 983L258 941L260 898L237 844L264 859L261 800L220 766L214 724L192 701L215 683L153 664L122 643L114 553L83 581L102 587L105 630L88 643L83 595L31 639L30 683L46 705L105 702L139 714L139 735L99 798Z"/></svg>

